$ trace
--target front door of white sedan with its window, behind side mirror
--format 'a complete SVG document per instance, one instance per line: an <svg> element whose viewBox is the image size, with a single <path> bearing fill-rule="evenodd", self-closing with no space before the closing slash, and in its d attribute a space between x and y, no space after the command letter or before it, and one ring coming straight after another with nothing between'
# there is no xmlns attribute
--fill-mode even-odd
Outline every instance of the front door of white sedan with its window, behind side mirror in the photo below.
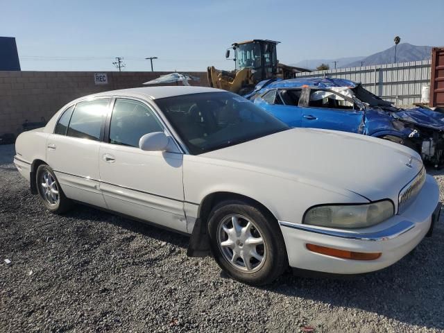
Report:
<svg viewBox="0 0 444 333"><path fill-rule="evenodd" d="M187 232L182 153L139 148L142 135L164 130L145 103L116 99L99 152L101 191L110 210Z"/></svg>

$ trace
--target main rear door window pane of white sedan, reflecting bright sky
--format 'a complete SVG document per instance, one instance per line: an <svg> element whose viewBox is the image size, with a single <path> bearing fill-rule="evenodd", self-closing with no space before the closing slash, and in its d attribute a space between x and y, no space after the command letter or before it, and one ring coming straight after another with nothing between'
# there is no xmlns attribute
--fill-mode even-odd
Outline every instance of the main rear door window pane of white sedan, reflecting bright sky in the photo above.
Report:
<svg viewBox="0 0 444 333"><path fill-rule="evenodd" d="M108 103L109 99L77 103L71 121L69 121L67 135L99 141Z"/></svg>

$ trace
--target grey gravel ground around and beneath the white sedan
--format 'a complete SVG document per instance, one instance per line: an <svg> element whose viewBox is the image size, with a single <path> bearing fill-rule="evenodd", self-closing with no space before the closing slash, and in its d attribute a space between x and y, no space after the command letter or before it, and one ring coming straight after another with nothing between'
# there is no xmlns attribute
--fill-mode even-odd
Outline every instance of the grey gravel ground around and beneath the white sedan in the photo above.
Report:
<svg viewBox="0 0 444 333"><path fill-rule="evenodd" d="M444 332L443 221L383 271L255 288L187 257L187 237L81 205L46 212L13 152L0 146L0 332Z"/></svg>

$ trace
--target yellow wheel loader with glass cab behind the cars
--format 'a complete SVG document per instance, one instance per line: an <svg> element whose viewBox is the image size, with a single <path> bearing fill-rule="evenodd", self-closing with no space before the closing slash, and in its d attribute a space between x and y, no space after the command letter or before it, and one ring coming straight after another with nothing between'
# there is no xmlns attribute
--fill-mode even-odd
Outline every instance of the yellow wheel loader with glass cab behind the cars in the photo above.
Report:
<svg viewBox="0 0 444 333"><path fill-rule="evenodd" d="M255 85L270 78L294 78L300 71L309 71L299 67L280 64L277 59L275 40L248 40L234 43L227 49L225 58L230 58L234 51L234 71L221 71L214 66L207 68L210 87L225 89L229 92L245 95L253 91Z"/></svg>

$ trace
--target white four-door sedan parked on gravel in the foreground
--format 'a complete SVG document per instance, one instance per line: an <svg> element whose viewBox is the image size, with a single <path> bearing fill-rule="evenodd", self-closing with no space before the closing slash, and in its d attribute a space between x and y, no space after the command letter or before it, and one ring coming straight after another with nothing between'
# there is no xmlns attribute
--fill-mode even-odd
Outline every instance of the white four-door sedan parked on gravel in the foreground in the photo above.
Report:
<svg viewBox="0 0 444 333"><path fill-rule="evenodd" d="M144 87L77 99L19 135L14 162L54 213L80 202L191 234L265 284L288 266L354 274L404 257L441 204L420 156L382 139L289 128L235 94Z"/></svg>

